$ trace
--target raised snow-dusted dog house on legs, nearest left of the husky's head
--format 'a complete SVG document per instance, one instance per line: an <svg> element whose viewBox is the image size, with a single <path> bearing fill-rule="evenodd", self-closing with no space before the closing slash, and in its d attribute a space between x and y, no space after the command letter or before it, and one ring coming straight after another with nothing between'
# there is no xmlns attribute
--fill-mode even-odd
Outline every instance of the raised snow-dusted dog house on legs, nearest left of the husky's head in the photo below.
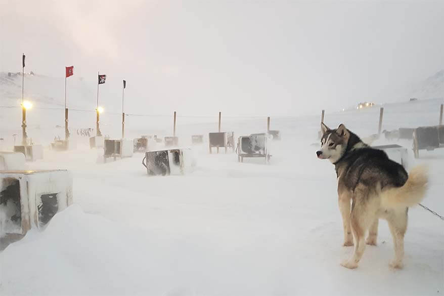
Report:
<svg viewBox="0 0 444 296"><path fill-rule="evenodd" d="M270 161L268 151L267 134L252 134L250 136L241 136L238 139L238 161L243 162L244 157L263 157L265 163Z"/></svg>

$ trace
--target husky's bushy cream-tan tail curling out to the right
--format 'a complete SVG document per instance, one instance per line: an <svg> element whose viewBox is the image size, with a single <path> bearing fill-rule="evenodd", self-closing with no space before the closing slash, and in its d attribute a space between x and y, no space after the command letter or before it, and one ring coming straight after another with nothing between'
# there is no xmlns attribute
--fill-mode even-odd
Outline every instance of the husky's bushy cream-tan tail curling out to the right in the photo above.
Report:
<svg viewBox="0 0 444 296"><path fill-rule="evenodd" d="M384 208L409 207L421 202L427 191L428 167L418 165L412 168L406 184L381 192L381 206Z"/></svg>

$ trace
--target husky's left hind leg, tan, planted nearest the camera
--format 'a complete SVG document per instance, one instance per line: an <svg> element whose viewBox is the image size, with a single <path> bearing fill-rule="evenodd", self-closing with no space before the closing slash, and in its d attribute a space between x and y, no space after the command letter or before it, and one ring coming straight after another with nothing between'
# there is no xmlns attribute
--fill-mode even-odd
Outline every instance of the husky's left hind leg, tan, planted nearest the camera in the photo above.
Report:
<svg viewBox="0 0 444 296"><path fill-rule="evenodd" d="M351 230L354 236L354 252L350 259L341 263L343 267L357 268L366 248L365 234L376 219L378 199L370 195L367 188L355 189L351 205Z"/></svg>

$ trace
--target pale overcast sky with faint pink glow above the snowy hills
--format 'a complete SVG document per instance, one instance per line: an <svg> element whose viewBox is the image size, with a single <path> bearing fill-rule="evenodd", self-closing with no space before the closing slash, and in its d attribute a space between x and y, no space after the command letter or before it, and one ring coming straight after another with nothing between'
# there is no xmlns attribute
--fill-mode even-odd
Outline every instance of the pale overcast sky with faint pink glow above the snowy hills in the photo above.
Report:
<svg viewBox="0 0 444 296"><path fill-rule="evenodd" d="M128 112L337 110L444 68L444 1L0 3L0 71L20 71L22 52L40 74L74 65L93 84L100 70L108 109L127 80Z"/></svg>

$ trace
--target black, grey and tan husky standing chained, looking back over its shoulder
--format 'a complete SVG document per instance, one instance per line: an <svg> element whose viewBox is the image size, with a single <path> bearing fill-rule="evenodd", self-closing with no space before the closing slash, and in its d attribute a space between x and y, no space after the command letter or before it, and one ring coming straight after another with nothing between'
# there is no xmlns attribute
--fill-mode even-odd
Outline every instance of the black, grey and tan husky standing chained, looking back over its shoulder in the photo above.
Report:
<svg viewBox="0 0 444 296"><path fill-rule="evenodd" d="M321 149L316 154L335 165L344 246L353 245L354 237L353 255L341 265L358 267L366 243L376 245L378 220L383 218L393 236L394 260L390 266L402 268L407 213L409 206L425 195L426 167L416 166L408 175L401 164L390 160L384 151L370 148L344 124L331 130L321 123L321 131Z"/></svg>

